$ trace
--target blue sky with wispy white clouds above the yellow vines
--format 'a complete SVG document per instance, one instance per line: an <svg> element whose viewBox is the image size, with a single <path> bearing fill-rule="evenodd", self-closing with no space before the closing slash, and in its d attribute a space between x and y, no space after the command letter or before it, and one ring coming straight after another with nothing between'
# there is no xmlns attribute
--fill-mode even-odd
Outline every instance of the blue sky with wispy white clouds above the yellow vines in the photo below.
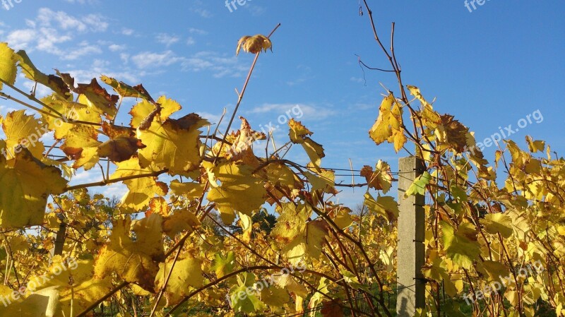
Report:
<svg viewBox="0 0 565 317"><path fill-rule="evenodd" d="M380 83L395 92L398 86L390 73L363 73L357 64L355 54L388 68L357 0L248 0L232 12L221 0L12 3L0 6L0 41L25 49L44 72L59 68L83 81L105 74L143 83L154 97L180 102L180 115L197 112L210 121L225 107L233 109L234 88L241 88L251 64L251 54L235 56L239 37L267 34L282 23L272 37L273 53L259 59L239 114L254 128L277 126L281 114L299 105L299 120L326 149L324 166L347 169L351 158L360 169L382 159L396 169L400 155L390 145L374 145L367 131L378 115ZM455 115L482 140L539 109L543 121L511 138L521 145L525 135L547 140L563 155L564 1L491 0L472 12L460 0L369 4L387 45L396 22L403 79L429 100L435 97L439 112ZM11 108L17 107L0 100L0 114ZM126 116L119 118L127 123ZM286 135L280 126L275 140ZM485 150L491 161L494 150ZM307 162L299 149L290 155ZM78 172L73 181L95 179L95 171ZM354 205L362 193L345 191L340 199Z"/></svg>

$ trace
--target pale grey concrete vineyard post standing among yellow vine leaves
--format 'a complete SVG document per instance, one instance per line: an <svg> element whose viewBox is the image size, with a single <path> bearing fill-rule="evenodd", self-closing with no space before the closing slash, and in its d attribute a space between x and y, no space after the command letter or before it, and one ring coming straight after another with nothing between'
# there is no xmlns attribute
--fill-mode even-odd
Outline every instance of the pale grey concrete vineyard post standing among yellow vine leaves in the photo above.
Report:
<svg viewBox="0 0 565 317"><path fill-rule="evenodd" d="M398 160L398 258L397 301L398 317L412 317L416 309L424 308L425 282L422 276L424 265L424 196L420 194L404 197L417 177L422 175L424 162L417 157Z"/></svg>

